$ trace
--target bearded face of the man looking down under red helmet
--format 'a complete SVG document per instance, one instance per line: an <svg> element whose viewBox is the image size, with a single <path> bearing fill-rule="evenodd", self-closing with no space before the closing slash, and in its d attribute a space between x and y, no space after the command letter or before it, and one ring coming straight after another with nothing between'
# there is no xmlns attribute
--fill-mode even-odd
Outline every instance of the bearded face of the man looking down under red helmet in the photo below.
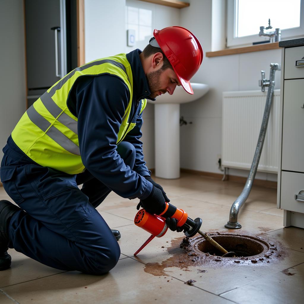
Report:
<svg viewBox="0 0 304 304"><path fill-rule="evenodd" d="M175 72L171 68L162 70L159 68L156 71L147 73L148 85L151 94L149 97L156 98L165 93L173 94L177 85L181 85Z"/></svg>

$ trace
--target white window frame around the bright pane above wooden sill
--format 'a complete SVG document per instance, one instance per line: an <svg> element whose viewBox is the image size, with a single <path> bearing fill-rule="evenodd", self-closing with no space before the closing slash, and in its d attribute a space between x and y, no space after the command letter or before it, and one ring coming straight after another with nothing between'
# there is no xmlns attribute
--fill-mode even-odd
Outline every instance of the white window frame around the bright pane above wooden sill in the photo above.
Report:
<svg viewBox="0 0 304 304"><path fill-rule="evenodd" d="M300 26L292 29L281 30L281 40L286 40L288 38L294 38L304 35L304 0L300 2ZM226 32L226 47L236 47L244 45L252 45L253 42L264 41L265 36L259 36L258 34L235 37L235 29L237 26L236 19L236 7L237 0L227 0L227 32ZM262 26L262 25L261 25ZM273 29L274 30L274 29Z"/></svg>

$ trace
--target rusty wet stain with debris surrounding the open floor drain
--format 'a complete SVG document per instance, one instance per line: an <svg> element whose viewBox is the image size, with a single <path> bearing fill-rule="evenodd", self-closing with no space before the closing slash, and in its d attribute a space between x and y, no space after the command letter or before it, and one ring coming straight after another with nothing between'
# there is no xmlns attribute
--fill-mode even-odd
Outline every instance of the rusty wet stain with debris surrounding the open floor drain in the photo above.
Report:
<svg viewBox="0 0 304 304"><path fill-rule="evenodd" d="M209 234L212 238L216 236L248 236L243 233L233 234L233 233L220 233L215 232L214 234ZM266 242L266 240L261 237L253 237L254 239ZM259 267L267 265L267 263L278 263L282 260L287 252L284 247L279 246L278 242L268 241L268 247L266 250L260 254L249 256L249 257L221 257L215 254L209 254L208 252L201 252L198 250L197 244L205 241L201 236L199 237L179 237L171 240L171 246L167 248L168 253L171 255L167 260L159 263L147 263L145 265L144 271L155 276L168 275L169 270L165 270L170 267L178 267L182 271L191 271L188 268L198 267L196 269L201 273L208 272L203 267L208 268L225 268L225 267L240 267L245 265L252 265L253 267ZM166 272L168 271L168 273Z"/></svg>

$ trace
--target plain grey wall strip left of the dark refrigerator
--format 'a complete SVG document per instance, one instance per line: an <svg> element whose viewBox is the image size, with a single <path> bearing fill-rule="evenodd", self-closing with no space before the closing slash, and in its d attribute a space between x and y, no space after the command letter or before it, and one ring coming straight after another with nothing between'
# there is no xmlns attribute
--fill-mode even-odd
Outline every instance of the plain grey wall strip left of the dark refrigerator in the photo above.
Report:
<svg viewBox="0 0 304 304"><path fill-rule="evenodd" d="M0 1L0 159L26 110L23 1Z"/></svg>

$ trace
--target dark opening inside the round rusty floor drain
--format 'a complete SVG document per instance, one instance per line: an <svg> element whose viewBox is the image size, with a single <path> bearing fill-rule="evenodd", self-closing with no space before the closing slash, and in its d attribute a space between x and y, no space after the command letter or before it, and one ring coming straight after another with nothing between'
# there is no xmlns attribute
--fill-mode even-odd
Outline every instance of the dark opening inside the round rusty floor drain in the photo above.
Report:
<svg viewBox="0 0 304 304"><path fill-rule="evenodd" d="M259 243L257 240L239 236L212 236L212 239L225 248L228 252L235 252L237 257L251 257L261 254L264 250L266 251L269 248L263 246L263 244ZM204 253L209 253L210 255L223 255L222 252L217 250L206 240L202 240L202 242L197 245L197 248Z"/></svg>

